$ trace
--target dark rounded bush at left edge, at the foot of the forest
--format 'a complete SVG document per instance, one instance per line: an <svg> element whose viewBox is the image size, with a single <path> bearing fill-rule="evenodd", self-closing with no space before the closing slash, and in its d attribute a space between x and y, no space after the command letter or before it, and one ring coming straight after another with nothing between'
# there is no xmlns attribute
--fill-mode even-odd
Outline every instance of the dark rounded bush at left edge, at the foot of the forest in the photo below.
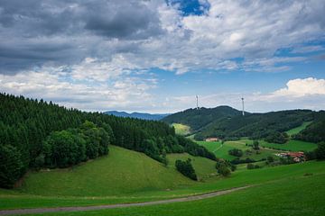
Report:
<svg viewBox="0 0 325 216"><path fill-rule="evenodd" d="M11 145L0 146L0 186L12 188L23 175L21 153Z"/></svg>

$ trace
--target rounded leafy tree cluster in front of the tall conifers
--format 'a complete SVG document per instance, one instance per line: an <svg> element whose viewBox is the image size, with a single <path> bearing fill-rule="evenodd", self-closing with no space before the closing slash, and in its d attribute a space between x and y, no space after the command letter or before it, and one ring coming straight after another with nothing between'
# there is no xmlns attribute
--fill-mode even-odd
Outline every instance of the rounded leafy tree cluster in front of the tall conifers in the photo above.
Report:
<svg viewBox="0 0 325 216"><path fill-rule="evenodd" d="M79 129L52 132L43 142L42 153L36 157L36 166L67 167L81 161L107 155L109 135L91 121Z"/></svg>

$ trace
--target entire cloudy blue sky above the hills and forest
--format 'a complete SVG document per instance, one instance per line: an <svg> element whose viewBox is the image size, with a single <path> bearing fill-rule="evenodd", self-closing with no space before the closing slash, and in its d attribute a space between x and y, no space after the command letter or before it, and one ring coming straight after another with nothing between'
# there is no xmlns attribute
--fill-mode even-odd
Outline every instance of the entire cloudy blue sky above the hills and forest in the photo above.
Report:
<svg viewBox="0 0 325 216"><path fill-rule="evenodd" d="M325 109L325 1L0 0L0 92L83 111Z"/></svg>

